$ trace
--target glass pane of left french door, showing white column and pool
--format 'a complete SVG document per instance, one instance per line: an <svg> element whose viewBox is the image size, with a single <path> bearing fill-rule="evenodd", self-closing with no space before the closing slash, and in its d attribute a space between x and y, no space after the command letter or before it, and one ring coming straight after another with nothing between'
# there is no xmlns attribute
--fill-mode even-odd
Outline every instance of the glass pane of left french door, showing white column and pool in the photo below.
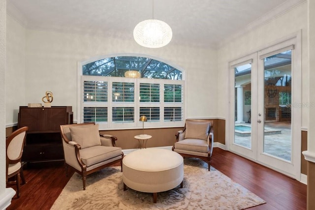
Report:
<svg viewBox="0 0 315 210"><path fill-rule="evenodd" d="M235 73L235 123L234 144L251 149L252 146L252 65L234 68Z"/></svg>

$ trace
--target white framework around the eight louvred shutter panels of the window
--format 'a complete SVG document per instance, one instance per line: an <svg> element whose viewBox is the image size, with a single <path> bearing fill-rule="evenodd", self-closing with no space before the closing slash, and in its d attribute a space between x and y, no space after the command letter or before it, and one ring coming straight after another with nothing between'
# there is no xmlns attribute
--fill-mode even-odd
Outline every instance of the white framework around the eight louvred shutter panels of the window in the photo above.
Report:
<svg viewBox="0 0 315 210"><path fill-rule="evenodd" d="M79 62L80 63L80 62ZM84 107L107 107L107 122L96 122L99 124L100 130L110 129L136 129L142 128L142 122L138 120L141 107L160 107L159 121L145 122L147 128L156 127L181 127L185 124L185 80L165 80L165 79L148 79L148 78L125 78L125 77L104 77L104 76L88 76L82 75L82 63L78 63L78 92L77 92L77 123L83 123L83 109ZM83 88L84 81L107 81L108 85L108 100L107 102L84 102ZM113 122L112 121L112 82L126 82L134 83L134 102L115 102L119 107L134 107L134 122ZM160 94L159 102L140 102L140 83L159 84ZM164 102L164 85L182 85L182 102ZM164 107L181 107L182 120L180 121L164 121Z"/></svg>

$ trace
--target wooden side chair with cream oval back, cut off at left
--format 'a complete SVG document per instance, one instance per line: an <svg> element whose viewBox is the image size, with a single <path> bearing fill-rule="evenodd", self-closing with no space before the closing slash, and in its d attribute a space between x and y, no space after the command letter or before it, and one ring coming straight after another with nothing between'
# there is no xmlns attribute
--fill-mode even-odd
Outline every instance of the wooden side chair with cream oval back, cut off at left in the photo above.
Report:
<svg viewBox="0 0 315 210"><path fill-rule="evenodd" d="M20 179L22 178L22 183L25 183L21 158L28 129L27 126L21 127L6 138L5 180L8 184L9 179L15 178L18 198L20 197Z"/></svg>

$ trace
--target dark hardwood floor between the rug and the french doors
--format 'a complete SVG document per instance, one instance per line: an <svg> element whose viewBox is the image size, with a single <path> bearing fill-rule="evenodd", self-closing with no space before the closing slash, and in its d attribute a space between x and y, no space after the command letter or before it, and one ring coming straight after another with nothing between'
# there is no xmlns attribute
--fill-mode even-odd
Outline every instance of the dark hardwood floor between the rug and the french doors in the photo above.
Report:
<svg viewBox="0 0 315 210"><path fill-rule="evenodd" d="M306 210L306 184L218 148L212 166L267 202L251 210Z"/></svg>

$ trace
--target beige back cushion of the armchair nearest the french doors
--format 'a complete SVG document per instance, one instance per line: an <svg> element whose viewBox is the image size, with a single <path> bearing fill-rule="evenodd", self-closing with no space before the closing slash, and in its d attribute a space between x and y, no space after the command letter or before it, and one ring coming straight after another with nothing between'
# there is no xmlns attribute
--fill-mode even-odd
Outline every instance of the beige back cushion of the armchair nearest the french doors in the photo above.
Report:
<svg viewBox="0 0 315 210"><path fill-rule="evenodd" d="M208 141L210 122L186 121L185 139L202 139Z"/></svg>

